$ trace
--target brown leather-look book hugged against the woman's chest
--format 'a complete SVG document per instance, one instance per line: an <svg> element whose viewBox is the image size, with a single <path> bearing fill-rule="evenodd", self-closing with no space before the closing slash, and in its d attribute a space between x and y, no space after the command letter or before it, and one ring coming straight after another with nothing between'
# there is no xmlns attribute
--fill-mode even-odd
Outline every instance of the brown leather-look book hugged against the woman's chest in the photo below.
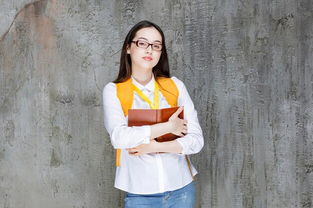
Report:
<svg viewBox="0 0 313 208"><path fill-rule="evenodd" d="M128 126L144 126L167 122L169 117L178 110L179 107L163 109L128 109ZM178 118L183 119L183 110ZM157 137L157 142L172 141L179 136L172 133Z"/></svg>

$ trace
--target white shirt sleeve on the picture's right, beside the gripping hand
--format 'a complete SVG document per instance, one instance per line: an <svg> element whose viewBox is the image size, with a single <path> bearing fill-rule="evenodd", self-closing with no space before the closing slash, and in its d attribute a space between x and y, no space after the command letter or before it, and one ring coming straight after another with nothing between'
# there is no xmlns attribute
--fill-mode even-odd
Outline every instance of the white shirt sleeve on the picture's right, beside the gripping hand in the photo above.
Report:
<svg viewBox="0 0 313 208"><path fill-rule="evenodd" d="M176 77L172 77L171 79L174 81L179 91L177 106L183 106L183 119L187 120L186 135L176 139L176 141L182 146L182 151L179 155L198 153L203 147L204 140L197 112L194 109L192 100L183 82Z"/></svg>

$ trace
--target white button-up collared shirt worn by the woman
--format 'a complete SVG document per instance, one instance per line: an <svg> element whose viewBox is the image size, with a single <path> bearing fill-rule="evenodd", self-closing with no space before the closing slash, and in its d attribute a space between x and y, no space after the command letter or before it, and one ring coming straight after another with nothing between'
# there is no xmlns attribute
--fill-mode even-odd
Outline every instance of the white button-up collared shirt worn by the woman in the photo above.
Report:
<svg viewBox="0 0 313 208"><path fill-rule="evenodd" d="M198 153L203 147L202 130L197 113L184 84L176 77L179 96L177 106L183 106L183 118L187 120L187 134L176 141L182 146L181 154L152 153L130 156L125 148L133 148L150 142L150 126L128 127L116 96L116 85L108 83L102 93L104 125L115 149L121 149L120 166L116 167L114 187L132 194L156 194L180 189L192 181L184 155ZM154 77L142 86L131 77L132 83L154 103ZM165 97L159 91L159 108L169 108ZM131 109L150 109L150 106L136 92L133 92ZM197 174L191 165L192 174Z"/></svg>

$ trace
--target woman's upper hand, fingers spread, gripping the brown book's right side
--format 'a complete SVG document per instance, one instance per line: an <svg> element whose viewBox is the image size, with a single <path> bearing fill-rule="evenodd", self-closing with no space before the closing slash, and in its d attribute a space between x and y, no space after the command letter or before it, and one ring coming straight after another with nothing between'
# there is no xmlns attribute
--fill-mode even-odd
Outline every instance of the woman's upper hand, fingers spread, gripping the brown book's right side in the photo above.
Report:
<svg viewBox="0 0 313 208"><path fill-rule="evenodd" d="M170 128L170 133L183 137L187 133L187 120L182 120L178 118L179 113L181 113L183 107L180 106L178 110L173 113L168 119L168 125Z"/></svg>

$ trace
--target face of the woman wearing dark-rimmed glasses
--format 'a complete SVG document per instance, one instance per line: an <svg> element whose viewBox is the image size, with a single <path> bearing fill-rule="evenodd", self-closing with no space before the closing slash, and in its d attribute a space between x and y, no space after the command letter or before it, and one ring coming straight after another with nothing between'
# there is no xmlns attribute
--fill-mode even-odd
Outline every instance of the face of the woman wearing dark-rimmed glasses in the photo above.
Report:
<svg viewBox="0 0 313 208"><path fill-rule="evenodd" d="M162 36L154 27L139 29L132 39L132 41L136 40L143 40L151 44L162 44ZM151 45L147 48L140 48L135 43L129 45L127 53L131 58L131 70L152 70L161 55L161 51L153 50Z"/></svg>

